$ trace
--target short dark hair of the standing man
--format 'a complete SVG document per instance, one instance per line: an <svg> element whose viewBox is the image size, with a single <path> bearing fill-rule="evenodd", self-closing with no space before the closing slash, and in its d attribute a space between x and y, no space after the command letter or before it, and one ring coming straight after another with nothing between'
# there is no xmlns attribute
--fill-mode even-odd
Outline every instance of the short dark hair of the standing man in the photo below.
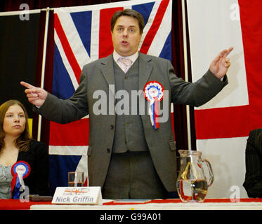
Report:
<svg viewBox="0 0 262 224"><path fill-rule="evenodd" d="M117 12L114 13L114 15L111 18L111 31L114 30L114 25L117 22L117 19L120 16L124 16L124 15L125 16L131 16L131 17L135 18L136 20L138 20L140 34L142 34L143 33L143 29L145 27L145 22L144 22L143 15L138 13L136 10L133 10L133 9L130 9L130 8L126 8L125 10L117 11Z"/></svg>

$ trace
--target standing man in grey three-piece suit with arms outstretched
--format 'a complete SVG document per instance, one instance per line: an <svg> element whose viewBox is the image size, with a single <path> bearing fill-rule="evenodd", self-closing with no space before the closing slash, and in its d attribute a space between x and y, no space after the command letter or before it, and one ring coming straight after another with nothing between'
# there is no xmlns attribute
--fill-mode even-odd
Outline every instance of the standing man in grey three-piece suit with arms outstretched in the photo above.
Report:
<svg viewBox="0 0 262 224"><path fill-rule="evenodd" d="M103 198L166 198L176 191L170 104L200 106L228 83L232 48L220 52L196 83L188 83L175 75L168 60L138 52L143 27L143 17L135 10L114 13L113 54L83 67L70 99L21 82L35 110L50 120L70 123L89 114L89 183L101 186ZM161 99L150 101L159 95ZM151 106L159 104L163 116L167 111L167 118L152 116L147 100Z"/></svg>

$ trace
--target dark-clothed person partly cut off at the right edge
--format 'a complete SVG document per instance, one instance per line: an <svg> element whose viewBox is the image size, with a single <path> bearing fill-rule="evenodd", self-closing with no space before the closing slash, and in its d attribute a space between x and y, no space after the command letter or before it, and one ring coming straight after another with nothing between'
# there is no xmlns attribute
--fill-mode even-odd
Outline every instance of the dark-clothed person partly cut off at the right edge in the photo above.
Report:
<svg viewBox="0 0 262 224"><path fill-rule="evenodd" d="M262 197L262 129L251 130L249 133L243 186L249 197Z"/></svg>

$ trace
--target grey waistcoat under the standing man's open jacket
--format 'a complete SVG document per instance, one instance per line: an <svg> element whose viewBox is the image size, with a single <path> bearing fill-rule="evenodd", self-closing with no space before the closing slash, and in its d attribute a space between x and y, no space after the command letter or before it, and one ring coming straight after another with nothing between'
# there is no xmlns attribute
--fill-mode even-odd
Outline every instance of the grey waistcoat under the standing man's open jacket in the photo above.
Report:
<svg viewBox="0 0 262 224"><path fill-rule="evenodd" d="M139 60L136 59L136 62L133 63L129 71L126 73L124 73L117 63L114 62L115 97L118 99L115 101L116 121L113 153L148 151L142 120L138 113L138 97L136 97L137 110L131 111L131 90L138 90L138 61ZM122 91L118 92L119 90ZM119 115L119 112L123 112L122 115ZM131 115L131 113L135 114Z"/></svg>

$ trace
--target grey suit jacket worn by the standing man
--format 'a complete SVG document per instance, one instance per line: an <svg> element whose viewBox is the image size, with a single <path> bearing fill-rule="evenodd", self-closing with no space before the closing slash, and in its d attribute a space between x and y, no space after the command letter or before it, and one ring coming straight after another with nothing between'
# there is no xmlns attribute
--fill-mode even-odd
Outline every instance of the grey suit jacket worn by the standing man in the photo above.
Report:
<svg viewBox="0 0 262 224"><path fill-rule="evenodd" d="M171 102L200 106L213 98L228 83L221 82L211 71L207 71L196 83L188 83L178 78L171 62L159 57L139 53L139 85L143 90L150 80L157 80L169 90L169 110ZM114 104L110 97L114 97L114 69L112 55L86 64L81 71L78 89L70 99L62 100L48 94L40 109L36 109L42 116L57 123L70 123L89 114L89 183L90 186L101 186L105 181L107 169L112 153L114 139L115 115ZM103 90L107 94L107 114L96 115L93 105L93 93ZM145 97L140 94L140 102ZM170 112L170 111L169 111ZM150 116L140 115L145 139L152 155L152 161L162 183L169 192L176 190L176 149L173 139L171 117L165 123L159 123L155 130L150 122ZM178 118L179 119L179 118Z"/></svg>

